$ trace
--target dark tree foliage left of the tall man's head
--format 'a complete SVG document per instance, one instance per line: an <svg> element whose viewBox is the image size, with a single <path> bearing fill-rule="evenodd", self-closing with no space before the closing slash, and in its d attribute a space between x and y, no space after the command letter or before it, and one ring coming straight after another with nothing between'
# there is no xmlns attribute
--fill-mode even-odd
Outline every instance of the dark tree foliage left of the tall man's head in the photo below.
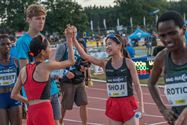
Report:
<svg viewBox="0 0 187 125"><path fill-rule="evenodd" d="M22 31L25 28L25 9L37 0L1 0L0 18L1 26Z"/></svg>

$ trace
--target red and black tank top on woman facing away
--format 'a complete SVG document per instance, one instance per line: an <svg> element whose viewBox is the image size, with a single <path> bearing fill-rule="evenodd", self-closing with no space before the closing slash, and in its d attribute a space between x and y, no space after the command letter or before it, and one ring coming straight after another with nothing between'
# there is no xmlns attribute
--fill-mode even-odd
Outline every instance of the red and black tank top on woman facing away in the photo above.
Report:
<svg viewBox="0 0 187 125"><path fill-rule="evenodd" d="M38 82L33 79L33 74L38 64L39 63L26 65L27 79L24 83L24 89L25 89L28 100L50 98L49 81Z"/></svg>

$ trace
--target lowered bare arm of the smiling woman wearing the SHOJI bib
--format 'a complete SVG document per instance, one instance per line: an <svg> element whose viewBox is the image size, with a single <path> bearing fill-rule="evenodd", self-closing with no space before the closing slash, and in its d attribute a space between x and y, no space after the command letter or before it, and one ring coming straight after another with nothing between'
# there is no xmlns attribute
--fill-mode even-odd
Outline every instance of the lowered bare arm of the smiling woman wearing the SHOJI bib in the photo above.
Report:
<svg viewBox="0 0 187 125"><path fill-rule="evenodd" d="M140 81L138 78L138 73L136 71L136 66L134 62L131 59L127 59L127 67L130 70L131 77L132 77L132 82L134 83L135 91L137 93L138 101L139 101L139 108L142 113L144 113L144 103L143 103L143 94L142 94L142 89L140 86Z"/></svg>

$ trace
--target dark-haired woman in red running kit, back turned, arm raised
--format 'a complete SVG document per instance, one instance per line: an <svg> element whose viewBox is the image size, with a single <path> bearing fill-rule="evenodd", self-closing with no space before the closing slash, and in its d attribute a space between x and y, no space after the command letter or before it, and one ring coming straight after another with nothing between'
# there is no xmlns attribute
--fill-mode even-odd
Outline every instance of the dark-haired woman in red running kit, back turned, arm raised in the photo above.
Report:
<svg viewBox="0 0 187 125"><path fill-rule="evenodd" d="M29 105L27 125L55 125L50 103L49 75L52 70L62 69L74 64L73 30L68 26L65 30L68 41L68 60L62 62L47 61L49 59L49 42L41 35L34 37L30 43L32 63L23 67L12 90L11 97ZM27 98L20 95L24 86Z"/></svg>

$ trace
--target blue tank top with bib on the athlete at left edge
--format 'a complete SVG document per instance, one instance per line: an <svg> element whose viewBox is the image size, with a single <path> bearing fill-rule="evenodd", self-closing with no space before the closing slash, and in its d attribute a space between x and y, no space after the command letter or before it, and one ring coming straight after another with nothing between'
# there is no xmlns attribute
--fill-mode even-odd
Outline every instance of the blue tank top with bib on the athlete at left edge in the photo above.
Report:
<svg viewBox="0 0 187 125"><path fill-rule="evenodd" d="M14 59L10 58L7 65L0 64L0 89L12 88L17 79L17 67Z"/></svg>

